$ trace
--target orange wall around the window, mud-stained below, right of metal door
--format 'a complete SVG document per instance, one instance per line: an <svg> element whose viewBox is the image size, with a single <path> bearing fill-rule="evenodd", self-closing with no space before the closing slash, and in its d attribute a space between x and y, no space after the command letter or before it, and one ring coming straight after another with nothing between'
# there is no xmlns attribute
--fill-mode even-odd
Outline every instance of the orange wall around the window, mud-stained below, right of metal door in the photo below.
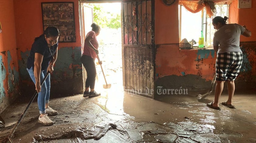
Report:
<svg viewBox="0 0 256 143"><path fill-rule="evenodd" d="M252 8L238 9L237 0L230 6L230 22L246 25L252 31L251 37L241 36L244 45L243 72L237 82L254 77L256 1L252 2ZM249 42L250 41L250 42ZM204 49L180 50L179 49L179 22L178 1L171 6L166 6L161 0L155 1L155 77L156 86L182 86L191 89L204 88L213 79L215 72L216 52ZM192 82L191 82L192 81ZM252 81L252 80L251 80ZM210 84L210 83L209 83ZM241 84L242 85L242 84ZM178 88L178 87L177 87Z"/></svg>

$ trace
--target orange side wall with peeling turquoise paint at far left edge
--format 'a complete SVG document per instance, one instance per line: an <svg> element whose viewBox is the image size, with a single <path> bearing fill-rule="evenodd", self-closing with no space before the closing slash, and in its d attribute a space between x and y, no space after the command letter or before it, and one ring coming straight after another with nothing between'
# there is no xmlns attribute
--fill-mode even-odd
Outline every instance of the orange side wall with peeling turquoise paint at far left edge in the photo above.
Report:
<svg viewBox="0 0 256 143"><path fill-rule="evenodd" d="M0 113L19 92L14 9L12 0L0 1Z"/></svg>

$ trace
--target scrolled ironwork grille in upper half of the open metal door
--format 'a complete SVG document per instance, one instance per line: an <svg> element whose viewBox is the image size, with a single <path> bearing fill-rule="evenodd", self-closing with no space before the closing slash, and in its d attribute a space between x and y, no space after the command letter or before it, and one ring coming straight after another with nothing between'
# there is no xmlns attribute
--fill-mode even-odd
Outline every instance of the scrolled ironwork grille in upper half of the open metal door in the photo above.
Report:
<svg viewBox="0 0 256 143"><path fill-rule="evenodd" d="M151 0L124 4L124 44L151 44Z"/></svg>

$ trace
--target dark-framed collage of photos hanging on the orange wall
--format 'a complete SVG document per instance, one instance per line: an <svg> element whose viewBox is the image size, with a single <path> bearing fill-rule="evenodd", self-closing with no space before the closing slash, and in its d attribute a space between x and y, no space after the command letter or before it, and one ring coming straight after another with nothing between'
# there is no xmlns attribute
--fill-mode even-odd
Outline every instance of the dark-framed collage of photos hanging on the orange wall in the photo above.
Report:
<svg viewBox="0 0 256 143"><path fill-rule="evenodd" d="M59 42L75 42L74 2L42 2L43 31L55 26L60 31Z"/></svg>

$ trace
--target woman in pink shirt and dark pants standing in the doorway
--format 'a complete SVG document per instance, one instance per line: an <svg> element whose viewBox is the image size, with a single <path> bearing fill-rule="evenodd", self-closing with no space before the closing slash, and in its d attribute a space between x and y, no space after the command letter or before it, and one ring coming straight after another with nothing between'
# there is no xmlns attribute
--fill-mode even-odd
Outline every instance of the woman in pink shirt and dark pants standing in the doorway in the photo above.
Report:
<svg viewBox="0 0 256 143"><path fill-rule="evenodd" d="M85 37L84 51L80 59L87 72L87 78L85 81L85 92L83 96L89 96L89 98L100 96L100 93L96 93L96 91L94 90L95 77L97 74L95 67L95 59L97 58L98 61L100 61L99 57L97 56L99 54L99 43L96 38L96 36L98 36L100 33L100 27L95 23L92 23L91 27L92 31L89 31ZM99 64L102 63L99 62Z"/></svg>

